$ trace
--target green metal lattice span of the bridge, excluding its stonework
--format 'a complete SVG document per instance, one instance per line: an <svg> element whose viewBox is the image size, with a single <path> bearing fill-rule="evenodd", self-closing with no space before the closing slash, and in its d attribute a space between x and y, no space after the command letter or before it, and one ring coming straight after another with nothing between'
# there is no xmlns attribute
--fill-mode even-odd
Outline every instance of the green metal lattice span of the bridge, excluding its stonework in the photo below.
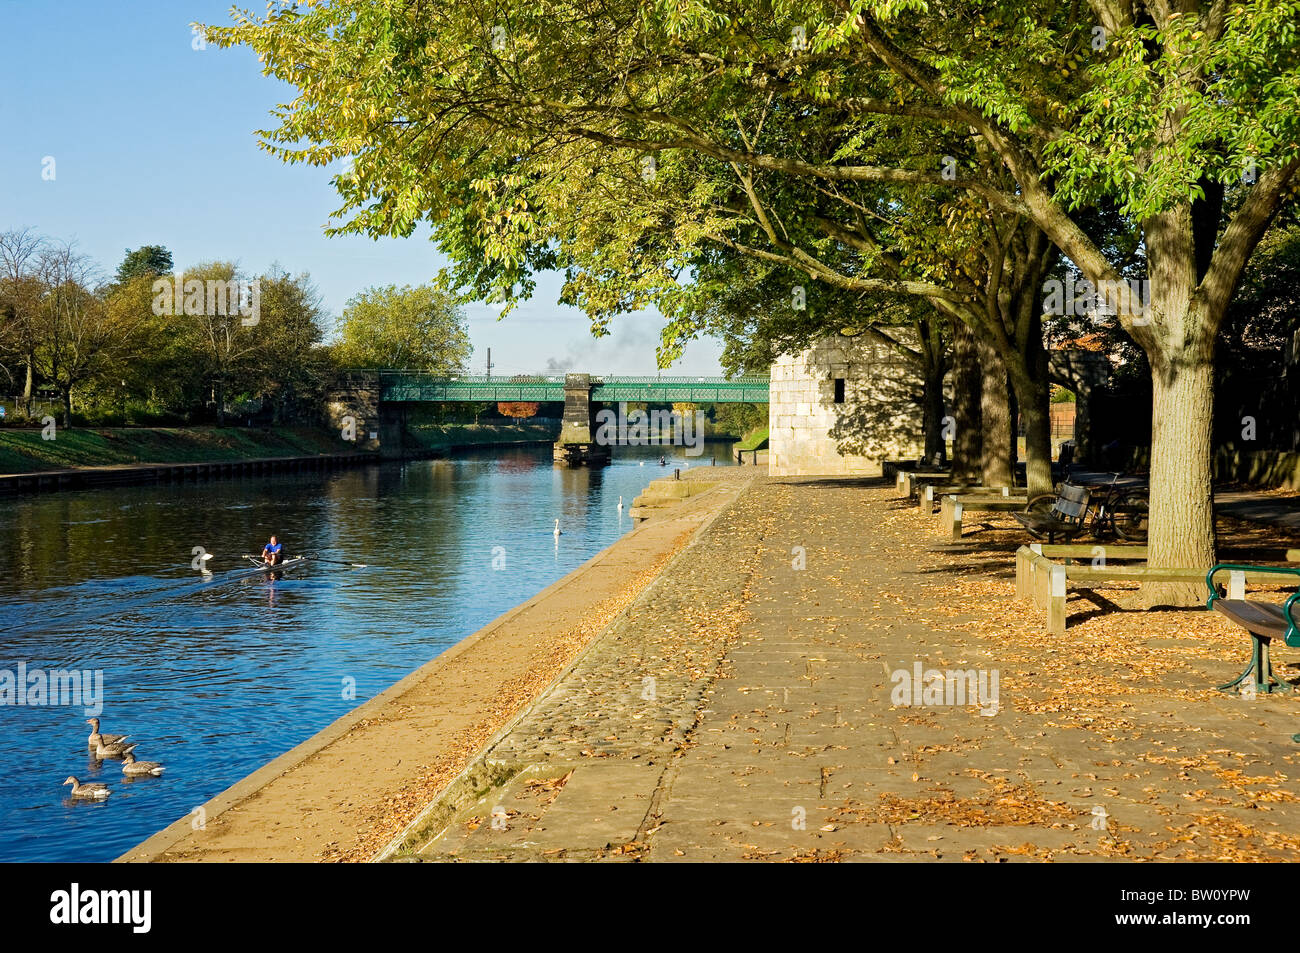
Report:
<svg viewBox="0 0 1300 953"><path fill-rule="evenodd" d="M685 403L767 403L766 377L585 377L590 399ZM417 371L381 371L381 400L563 400L566 376L446 377Z"/></svg>

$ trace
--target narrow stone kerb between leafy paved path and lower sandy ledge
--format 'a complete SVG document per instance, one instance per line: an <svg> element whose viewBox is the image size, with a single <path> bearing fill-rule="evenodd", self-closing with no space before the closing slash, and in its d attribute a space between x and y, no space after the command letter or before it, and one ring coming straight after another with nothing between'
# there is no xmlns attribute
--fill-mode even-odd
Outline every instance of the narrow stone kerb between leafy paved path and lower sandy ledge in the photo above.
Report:
<svg viewBox="0 0 1300 953"><path fill-rule="evenodd" d="M708 528L712 527L712 524L719 517L722 517L723 514L731 510L732 506L734 506L736 499L740 498L740 495L746 490L746 488L749 488L754 482L755 478L757 476L742 481L728 481L723 484L714 484L705 493L697 494L698 498L706 498L707 495L714 493L725 493L728 490L734 490L734 493L732 494L732 499L728 503L718 507L718 510L710 514L703 523L696 527L696 530L690 537L690 542L682 546L681 550L679 550L668 560L668 563L663 567L663 569L659 572L655 580L651 581L650 585L647 585L630 605L624 607L618 616L611 619L610 624L606 625L604 629L599 634L597 634L595 638L593 638L586 645L586 647L584 647L582 651L580 651L545 689L538 692L537 697L533 698L533 701L530 701L528 705L520 709L520 711L516 712L516 715L504 727L502 727L500 731L493 735L491 738L489 738L488 742L478 751L478 754L476 754L474 758L464 767L464 770L460 771L460 774L458 774L455 777L452 777L451 781L448 781L447 785L442 789L442 792L439 792L424 807L424 810L421 810L420 814L417 814L415 819L411 820L411 823L402 829L402 832L396 837L394 837L378 853L376 853L369 862L382 863L384 861L387 861L399 850L402 850L403 846L407 844L407 841L411 840L420 831L428 831L429 832L428 840L430 841L437 839L445 829L446 824L450 823L451 819L471 801L478 800L480 797L485 796L488 790L507 783L508 780L519 775L521 771L528 771L529 766L517 766L517 764L512 766L500 762L493 762L491 761L493 750L507 736L510 736L510 733L520 724L520 722L528 718L537 709L537 706L546 699L546 697L556 688L556 685L563 683L564 679L569 676L569 673L578 666L578 663L581 663L582 659L586 658L586 655L593 650L597 642L599 642L606 636L606 633L608 633L614 627L619 625L637 603L640 603L645 598L653 598L655 590L663 584L664 576L670 573L670 571L673 568L673 566L677 564L679 560L685 558L685 555L699 542L699 540L705 536L705 533L708 532Z"/></svg>

